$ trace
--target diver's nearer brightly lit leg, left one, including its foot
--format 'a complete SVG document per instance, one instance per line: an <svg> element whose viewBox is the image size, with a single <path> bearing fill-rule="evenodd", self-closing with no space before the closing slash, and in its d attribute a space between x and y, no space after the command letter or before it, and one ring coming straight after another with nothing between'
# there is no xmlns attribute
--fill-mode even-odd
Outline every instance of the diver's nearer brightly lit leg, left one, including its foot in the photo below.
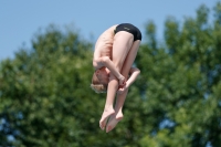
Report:
<svg viewBox="0 0 221 147"><path fill-rule="evenodd" d="M125 31L120 31L115 34L113 43L113 63L115 64L118 71L122 70L127 53L131 48L133 40L134 40L133 34ZM104 113L99 120L99 127L102 129L105 128L107 118L114 113L113 103L117 90L118 90L118 80L110 73Z"/></svg>

